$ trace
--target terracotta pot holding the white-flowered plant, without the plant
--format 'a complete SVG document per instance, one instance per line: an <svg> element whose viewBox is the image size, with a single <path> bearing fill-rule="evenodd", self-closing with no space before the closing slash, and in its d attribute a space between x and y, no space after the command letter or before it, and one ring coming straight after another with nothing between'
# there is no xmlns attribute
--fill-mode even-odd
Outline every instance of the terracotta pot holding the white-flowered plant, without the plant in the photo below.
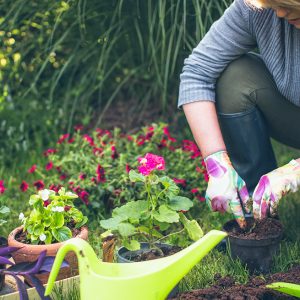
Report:
<svg viewBox="0 0 300 300"><path fill-rule="evenodd" d="M16 235L23 231L23 226L20 226L14 229L8 236L8 245L12 247L22 247L19 250L12 253L12 257L15 263L20 262L33 262L38 259L39 254L43 250L47 250L47 256L56 256L57 251L63 245L64 242L54 243L50 245L30 245L18 242L16 240ZM80 229L80 233L76 238L81 238L87 240L88 238L88 229L83 226ZM68 277L78 275L78 263L77 257L74 252L69 252L65 260L68 262L69 267L61 268L56 280L62 280ZM43 284L47 283L49 273L39 274L37 277L42 281ZM30 282L28 282L30 284ZM31 285L31 284L30 284Z"/></svg>

